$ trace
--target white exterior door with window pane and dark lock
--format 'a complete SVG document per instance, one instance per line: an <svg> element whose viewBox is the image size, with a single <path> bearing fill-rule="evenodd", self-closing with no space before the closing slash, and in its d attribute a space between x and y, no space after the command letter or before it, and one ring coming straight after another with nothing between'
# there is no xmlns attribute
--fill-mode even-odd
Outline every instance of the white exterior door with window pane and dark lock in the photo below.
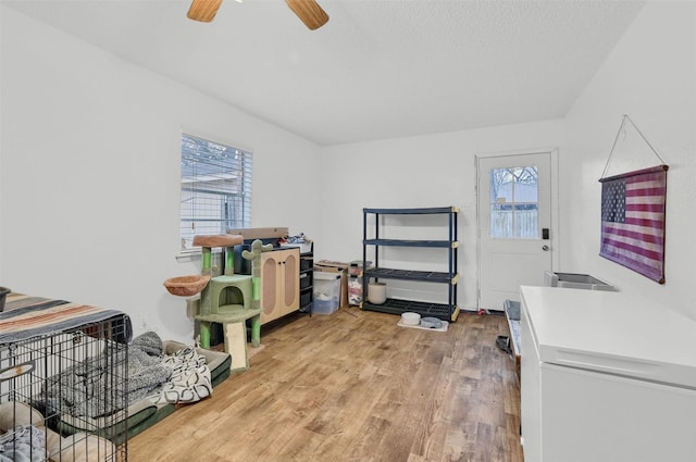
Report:
<svg viewBox="0 0 696 462"><path fill-rule="evenodd" d="M502 310L551 270L551 152L477 158L478 308Z"/></svg>

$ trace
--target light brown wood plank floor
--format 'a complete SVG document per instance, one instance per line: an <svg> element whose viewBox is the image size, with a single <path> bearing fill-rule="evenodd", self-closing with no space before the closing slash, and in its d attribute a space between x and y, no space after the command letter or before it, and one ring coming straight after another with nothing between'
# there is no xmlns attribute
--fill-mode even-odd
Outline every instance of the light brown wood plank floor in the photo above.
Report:
<svg viewBox="0 0 696 462"><path fill-rule="evenodd" d="M504 316L446 333L340 309L262 330L251 369L128 441L128 460L521 462Z"/></svg>

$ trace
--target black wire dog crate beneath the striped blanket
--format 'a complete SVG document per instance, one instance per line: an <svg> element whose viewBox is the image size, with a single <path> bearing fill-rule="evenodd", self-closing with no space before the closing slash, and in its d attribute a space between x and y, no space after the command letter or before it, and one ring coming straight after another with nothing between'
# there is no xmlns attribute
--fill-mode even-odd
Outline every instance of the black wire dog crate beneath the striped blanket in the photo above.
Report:
<svg viewBox="0 0 696 462"><path fill-rule="evenodd" d="M127 461L127 330L122 315L0 345L0 460Z"/></svg>

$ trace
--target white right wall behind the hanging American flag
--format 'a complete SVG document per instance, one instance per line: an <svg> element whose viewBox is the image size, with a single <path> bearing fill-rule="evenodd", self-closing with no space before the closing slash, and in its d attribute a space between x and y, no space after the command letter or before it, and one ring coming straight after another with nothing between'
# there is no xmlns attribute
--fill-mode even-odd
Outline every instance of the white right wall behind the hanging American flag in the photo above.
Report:
<svg viewBox="0 0 696 462"><path fill-rule="evenodd" d="M696 319L696 4L649 3L636 17L567 117L561 168L561 271L591 273ZM666 284L598 257L600 184L627 114L669 164ZM632 130L623 134L608 174L659 164ZM616 160L616 162L614 162Z"/></svg>

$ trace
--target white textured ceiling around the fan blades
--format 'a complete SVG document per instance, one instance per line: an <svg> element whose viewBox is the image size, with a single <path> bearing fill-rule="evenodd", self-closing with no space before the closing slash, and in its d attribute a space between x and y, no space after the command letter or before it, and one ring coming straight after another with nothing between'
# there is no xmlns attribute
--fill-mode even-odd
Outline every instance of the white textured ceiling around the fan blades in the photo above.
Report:
<svg viewBox="0 0 696 462"><path fill-rule="evenodd" d="M2 2L319 145L562 117L643 2L319 0Z"/></svg>

